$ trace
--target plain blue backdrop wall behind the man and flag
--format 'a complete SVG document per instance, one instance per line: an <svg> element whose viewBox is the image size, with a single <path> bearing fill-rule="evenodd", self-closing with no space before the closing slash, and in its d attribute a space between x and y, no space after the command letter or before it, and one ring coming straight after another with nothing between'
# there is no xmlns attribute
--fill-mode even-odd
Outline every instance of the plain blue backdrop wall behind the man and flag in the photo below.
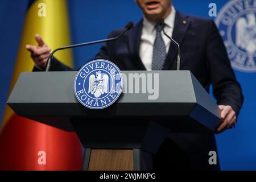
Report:
<svg viewBox="0 0 256 182"><path fill-rule="evenodd" d="M0 118L9 92L27 2L28 0L0 1ZM208 5L211 2L174 0L174 5L183 13L210 18ZM217 10L220 10L226 2L228 1L214 1ZM73 43L106 38L111 30L125 26L130 20L138 22L142 17L141 11L132 0L69 0L68 5ZM92 59L100 46L76 48L74 50L76 67ZM236 76L242 85L245 102L236 129L216 135L218 155L221 169L256 170L256 86L254 84L256 73L236 71Z"/></svg>

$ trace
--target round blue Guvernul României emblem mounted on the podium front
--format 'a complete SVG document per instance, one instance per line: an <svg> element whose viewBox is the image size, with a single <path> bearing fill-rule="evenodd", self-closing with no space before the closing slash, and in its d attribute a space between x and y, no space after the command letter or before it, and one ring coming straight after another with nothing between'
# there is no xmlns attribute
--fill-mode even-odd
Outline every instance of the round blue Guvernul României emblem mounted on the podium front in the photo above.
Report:
<svg viewBox="0 0 256 182"><path fill-rule="evenodd" d="M122 73L108 60L93 60L77 73L74 90L77 100L90 109L112 105L122 93Z"/></svg>

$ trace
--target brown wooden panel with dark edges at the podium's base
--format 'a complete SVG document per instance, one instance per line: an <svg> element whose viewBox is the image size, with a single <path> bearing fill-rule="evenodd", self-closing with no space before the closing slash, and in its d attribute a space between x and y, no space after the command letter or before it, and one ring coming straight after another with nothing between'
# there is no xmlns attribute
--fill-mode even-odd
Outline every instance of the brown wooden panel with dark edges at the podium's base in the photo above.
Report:
<svg viewBox="0 0 256 182"><path fill-rule="evenodd" d="M152 170L152 156L134 148L131 150L85 149L85 171Z"/></svg>

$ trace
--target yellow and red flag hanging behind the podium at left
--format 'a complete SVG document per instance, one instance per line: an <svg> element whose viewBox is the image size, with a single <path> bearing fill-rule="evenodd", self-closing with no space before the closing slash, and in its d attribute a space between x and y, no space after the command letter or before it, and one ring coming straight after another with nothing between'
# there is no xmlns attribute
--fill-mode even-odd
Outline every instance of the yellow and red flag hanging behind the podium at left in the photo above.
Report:
<svg viewBox="0 0 256 182"><path fill-rule="evenodd" d="M26 44L36 45L39 34L53 49L71 43L67 1L32 1L26 19L10 90L21 72L30 72L34 62ZM72 52L55 55L72 67ZM40 84L40 82L38 82ZM81 170L82 146L75 132L68 132L16 115L6 106L0 134L0 170Z"/></svg>

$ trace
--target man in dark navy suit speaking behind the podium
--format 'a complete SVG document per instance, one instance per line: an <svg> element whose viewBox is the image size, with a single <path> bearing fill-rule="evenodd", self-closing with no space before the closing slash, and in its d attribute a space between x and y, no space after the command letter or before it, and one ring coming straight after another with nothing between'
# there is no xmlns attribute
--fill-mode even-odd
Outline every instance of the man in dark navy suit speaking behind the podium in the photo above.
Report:
<svg viewBox="0 0 256 182"><path fill-rule="evenodd" d="M221 110L223 122L216 130L221 133L232 128L240 112L243 95L225 46L214 22L210 19L182 14L171 0L135 0L143 11L143 18L121 39L106 43L96 59L113 61L121 70L174 70L177 47L163 35L159 22L164 19L164 30L180 44L182 70L190 70L209 92ZM122 30L109 34L114 37ZM35 62L34 71L46 68L51 49L39 35L38 46L27 45ZM70 71L53 59L50 71ZM208 162L209 151L217 151L213 133L170 134L154 156L155 169L220 169Z"/></svg>

